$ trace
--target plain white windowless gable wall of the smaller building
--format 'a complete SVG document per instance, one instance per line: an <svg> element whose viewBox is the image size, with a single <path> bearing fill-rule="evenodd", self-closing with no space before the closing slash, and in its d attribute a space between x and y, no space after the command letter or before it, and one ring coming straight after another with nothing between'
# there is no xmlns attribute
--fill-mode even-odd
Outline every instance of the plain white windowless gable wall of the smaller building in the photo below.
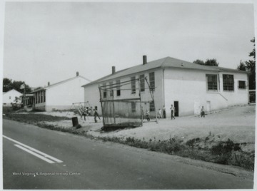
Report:
<svg viewBox="0 0 257 191"><path fill-rule="evenodd" d="M70 109L72 103L84 101L84 90L81 86L88 83L84 78L60 83L46 89L46 111Z"/></svg>

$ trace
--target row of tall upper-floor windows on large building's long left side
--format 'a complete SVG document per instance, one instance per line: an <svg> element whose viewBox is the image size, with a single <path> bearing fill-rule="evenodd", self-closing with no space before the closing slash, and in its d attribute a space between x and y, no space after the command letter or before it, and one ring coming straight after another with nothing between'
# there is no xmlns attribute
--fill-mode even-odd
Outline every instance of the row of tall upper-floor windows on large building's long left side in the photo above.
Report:
<svg viewBox="0 0 257 191"><path fill-rule="evenodd" d="M145 91L145 86L146 86L146 80L145 80L145 75L141 74L139 76L139 82L140 82L140 91L143 92ZM116 96L121 96L121 81L118 80L116 81L115 87L113 86L114 83L111 81L109 82L109 86L108 89L109 91L107 91L107 88L104 89L103 91L103 97L107 98L107 92L110 92L110 97L114 96L114 90L113 88L116 88ZM103 83L103 86L107 86L106 83ZM149 73L149 86L150 86L150 91L154 91L155 90L155 78L154 78L154 72ZM131 77L131 93L134 94L136 93L136 76Z"/></svg>

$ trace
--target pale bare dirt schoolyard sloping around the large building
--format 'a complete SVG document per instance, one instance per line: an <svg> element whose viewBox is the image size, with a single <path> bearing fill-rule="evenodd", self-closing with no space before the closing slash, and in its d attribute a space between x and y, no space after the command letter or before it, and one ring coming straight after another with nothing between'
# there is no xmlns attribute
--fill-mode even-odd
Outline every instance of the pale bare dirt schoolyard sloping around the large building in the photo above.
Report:
<svg viewBox="0 0 257 191"><path fill-rule="evenodd" d="M179 138L183 141L193 138L213 137L215 142L219 140L231 139L236 143L248 143L244 148L246 151L254 150L255 143L255 117L256 105L240 105L219 110L216 113L206 115L205 118L199 116L178 117L175 120L170 118L143 121L143 127L116 130L108 133L101 132L103 123L101 120L94 123L94 117L87 117L86 121L80 116L71 112L41 112L42 114L66 116L69 118L78 117L79 130L84 130L95 137L133 137L141 140L168 140L169 138ZM71 120L61 120L58 122L47 122L48 124L71 128Z"/></svg>

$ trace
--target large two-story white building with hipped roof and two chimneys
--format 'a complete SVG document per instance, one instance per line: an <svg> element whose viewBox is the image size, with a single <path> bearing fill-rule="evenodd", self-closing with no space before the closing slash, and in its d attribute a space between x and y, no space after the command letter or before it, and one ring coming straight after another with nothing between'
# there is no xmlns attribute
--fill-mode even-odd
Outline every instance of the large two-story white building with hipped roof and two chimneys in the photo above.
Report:
<svg viewBox="0 0 257 191"><path fill-rule="evenodd" d="M199 115L203 106L206 112L220 110L230 105L248 103L248 73L231 68L218 66L202 66L176 58L166 57L156 61L146 61L143 64L115 71L91 83L85 84L84 101L89 101L92 106L99 108L99 86L130 81L135 78L147 78L148 83L154 88L154 102L150 105L143 104L143 110L149 110L151 116L158 109L166 107L167 118L171 116L171 105L175 106L175 116ZM141 98L150 100L151 95L145 81L141 81ZM133 98L138 95L138 83L127 84L121 89L116 88L111 93L116 99ZM131 91L128 91L131 89ZM90 92L90 94L89 94ZM105 97L110 92L104 93ZM146 108L147 107L147 108ZM140 108L131 108L140 110Z"/></svg>

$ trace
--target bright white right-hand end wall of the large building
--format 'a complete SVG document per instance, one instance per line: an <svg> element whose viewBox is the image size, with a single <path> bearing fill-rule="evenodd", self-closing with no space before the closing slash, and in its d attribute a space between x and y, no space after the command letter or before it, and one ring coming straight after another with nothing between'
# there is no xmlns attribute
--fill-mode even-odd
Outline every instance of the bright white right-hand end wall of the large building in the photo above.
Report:
<svg viewBox="0 0 257 191"><path fill-rule="evenodd" d="M178 115L199 115L203 106L206 112L227 108L229 105L248 103L248 90L238 89L238 80L247 82L245 73L233 74L234 91L223 91L223 73L219 73L217 91L208 91L206 74L218 73L178 68L166 68L164 71L165 105L168 117L171 104L178 101ZM173 104L174 105L174 104Z"/></svg>

